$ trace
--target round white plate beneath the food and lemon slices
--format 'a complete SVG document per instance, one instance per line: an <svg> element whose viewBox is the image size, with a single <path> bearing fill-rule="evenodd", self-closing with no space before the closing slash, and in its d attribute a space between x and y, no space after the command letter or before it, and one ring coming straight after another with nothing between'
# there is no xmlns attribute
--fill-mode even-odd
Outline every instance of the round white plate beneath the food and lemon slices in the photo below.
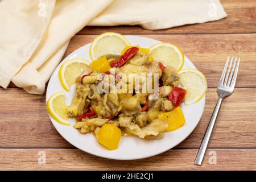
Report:
<svg viewBox="0 0 256 182"><path fill-rule="evenodd" d="M144 38L141 36L126 36L126 38L129 39L130 43L134 46L150 47L155 43L159 43L158 40ZM90 61L89 48L90 44L80 47L59 64L49 80L46 101L48 101L49 97L52 96L53 93L63 91L67 104L71 103L75 85L72 86L71 91L66 92L60 84L58 72L61 65L69 59L82 58ZM187 57L185 57L183 65L183 69L186 68L196 68ZM96 137L94 137L93 134L80 134L79 131L72 127L73 124L75 124L75 121L72 119L70 119L71 126L64 126L56 122L50 115L49 118L60 135L80 150L88 152L89 154L101 156L102 158L132 160L158 155L164 151L170 150L172 147L175 147L177 144L182 142L189 134L192 133L197 126L197 123L199 123L204 111L204 105L205 96L196 104L190 106L182 105L181 108L186 120L185 124L176 131L165 133L163 139L145 140L137 137L122 137L117 150L108 150L105 147L102 147L96 141Z"/></svg>

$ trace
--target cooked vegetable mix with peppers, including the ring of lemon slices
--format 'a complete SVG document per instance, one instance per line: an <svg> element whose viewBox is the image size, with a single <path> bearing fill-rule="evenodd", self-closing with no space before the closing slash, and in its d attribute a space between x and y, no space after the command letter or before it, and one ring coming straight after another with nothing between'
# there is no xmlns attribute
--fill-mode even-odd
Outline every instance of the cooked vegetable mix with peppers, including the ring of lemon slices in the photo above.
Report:
<svg viewBox="0 0 256 182"><path fill-rule="evenodd" d="M75 129L93 133L110 150L122 135L161 139L179 129L185 123L182 102L199 101L207 88L203 73L181 69L184 55L174 44L130 46L124 36L107 32L94 39L90 57L61 65L61 85L69 91L75 84L75 95L67 106L63 92L53 94L47 110L64 125L75 119Z"/></svg>

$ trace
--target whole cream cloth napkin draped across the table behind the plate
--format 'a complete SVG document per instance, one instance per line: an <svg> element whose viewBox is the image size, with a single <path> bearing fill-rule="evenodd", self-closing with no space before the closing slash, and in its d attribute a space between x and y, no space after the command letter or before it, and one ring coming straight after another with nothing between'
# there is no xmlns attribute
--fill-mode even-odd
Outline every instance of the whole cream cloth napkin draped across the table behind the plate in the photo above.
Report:
<svg viewBox="0 0 256 182"><path fill-rule="evenodd" d="M0 86L44 93L69 40L86 25L158 30L225 18L218 0L2 0Z"/></svg>

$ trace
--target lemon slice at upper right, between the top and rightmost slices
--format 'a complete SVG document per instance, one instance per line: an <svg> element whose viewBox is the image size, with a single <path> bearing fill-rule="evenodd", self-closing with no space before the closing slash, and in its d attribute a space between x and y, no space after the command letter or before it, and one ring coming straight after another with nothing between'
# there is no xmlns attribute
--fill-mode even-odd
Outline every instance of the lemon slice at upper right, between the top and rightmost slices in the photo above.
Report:
<svg viewBox="0 0 256 182"><path fill-rule="evenodd" d="M170 43L157 43L150 47L150 59L180 70L184 64L184 55L179 47Z"/></svg>

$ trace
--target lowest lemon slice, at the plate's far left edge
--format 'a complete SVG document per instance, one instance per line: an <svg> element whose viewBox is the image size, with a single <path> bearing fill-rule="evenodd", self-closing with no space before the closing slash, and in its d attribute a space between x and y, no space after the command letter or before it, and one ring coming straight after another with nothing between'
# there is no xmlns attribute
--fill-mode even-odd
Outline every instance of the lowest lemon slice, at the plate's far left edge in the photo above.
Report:
<svg viewBox="0 0 256 182"><path fill-rule="evenodd" d="M68 122L67 105L63 92L53 94L46 104L46 109L53 119L62 125L70 125Z"/></svg>

